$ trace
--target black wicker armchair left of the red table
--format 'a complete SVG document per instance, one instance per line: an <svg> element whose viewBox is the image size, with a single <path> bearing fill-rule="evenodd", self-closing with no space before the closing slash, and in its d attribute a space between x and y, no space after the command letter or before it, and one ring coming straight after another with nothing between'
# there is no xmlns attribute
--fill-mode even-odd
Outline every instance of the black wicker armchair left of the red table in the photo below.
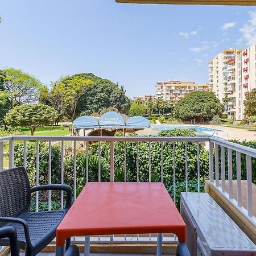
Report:
<svg viewBox="0 0 256 256"><path fill-rule="evenodd" d="M31 193L35 191L65 191L64 209L47 212L29 212ZM0 172L0 227L13 226L18 236L18 247L26 256L38 254L56 236L56 228L71 207L72 188L69 185L52 184L30 188L24 167ZM67 241L67 246L70 239ZM9 246L9 239L0 239L0 245Z"/></svg>

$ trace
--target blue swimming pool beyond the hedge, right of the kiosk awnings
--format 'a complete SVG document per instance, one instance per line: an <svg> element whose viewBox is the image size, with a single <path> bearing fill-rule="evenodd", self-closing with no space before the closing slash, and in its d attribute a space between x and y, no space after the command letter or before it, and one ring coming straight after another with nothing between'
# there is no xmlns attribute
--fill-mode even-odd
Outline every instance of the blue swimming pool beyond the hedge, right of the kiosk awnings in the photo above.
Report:
<svg viewBox="0 0 256 256"><path fill-rule="evenodd" d="M152 127L160 131L171 130L171 129L196 130L196 132L199 134L207 134L207 135L213 135L214 131L222 131L222 130L201 127L196 125L152 125Z"/></svg>

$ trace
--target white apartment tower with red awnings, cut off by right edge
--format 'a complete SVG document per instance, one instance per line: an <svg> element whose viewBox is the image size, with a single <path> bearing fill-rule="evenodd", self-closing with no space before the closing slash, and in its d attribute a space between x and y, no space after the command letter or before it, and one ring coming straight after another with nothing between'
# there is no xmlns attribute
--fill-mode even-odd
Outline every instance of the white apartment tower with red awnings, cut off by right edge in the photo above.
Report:
<svg viewBox="0 0 256 256"><path fill-rule="evenodd" d="M236 70L236 120L245 119L246 95L256 88L256 44L242 51L235 58Z"/></svg>

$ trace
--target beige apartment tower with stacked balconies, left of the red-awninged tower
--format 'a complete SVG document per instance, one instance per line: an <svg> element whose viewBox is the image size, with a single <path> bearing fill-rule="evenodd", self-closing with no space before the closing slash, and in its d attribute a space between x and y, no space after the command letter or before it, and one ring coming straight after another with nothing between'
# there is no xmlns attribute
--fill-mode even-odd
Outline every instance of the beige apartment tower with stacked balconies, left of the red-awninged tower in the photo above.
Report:
<svg viewBox="0 0 256 256"><path fill-rule="evenodd" d="M214 59L209 61L209 84L218 99L228 97L228 102L223 102L224 113L229 118L236 116L236 56L242 49L224 49Z"/></svg>

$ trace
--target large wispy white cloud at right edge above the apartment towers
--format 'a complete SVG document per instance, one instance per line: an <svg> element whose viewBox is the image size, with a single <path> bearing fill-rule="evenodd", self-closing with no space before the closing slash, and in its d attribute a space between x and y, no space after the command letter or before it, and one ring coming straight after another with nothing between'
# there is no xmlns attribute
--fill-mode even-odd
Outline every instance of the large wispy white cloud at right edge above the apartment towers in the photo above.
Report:
<svg viewBox="0 0 256 256"><path fill-rule="evenodd" d="M256 11L249 11L249 16L250 19L240 28L239 31L242 33L242 36L237 40L238 43L245 41L247 46L256 43Z"/></svg>

